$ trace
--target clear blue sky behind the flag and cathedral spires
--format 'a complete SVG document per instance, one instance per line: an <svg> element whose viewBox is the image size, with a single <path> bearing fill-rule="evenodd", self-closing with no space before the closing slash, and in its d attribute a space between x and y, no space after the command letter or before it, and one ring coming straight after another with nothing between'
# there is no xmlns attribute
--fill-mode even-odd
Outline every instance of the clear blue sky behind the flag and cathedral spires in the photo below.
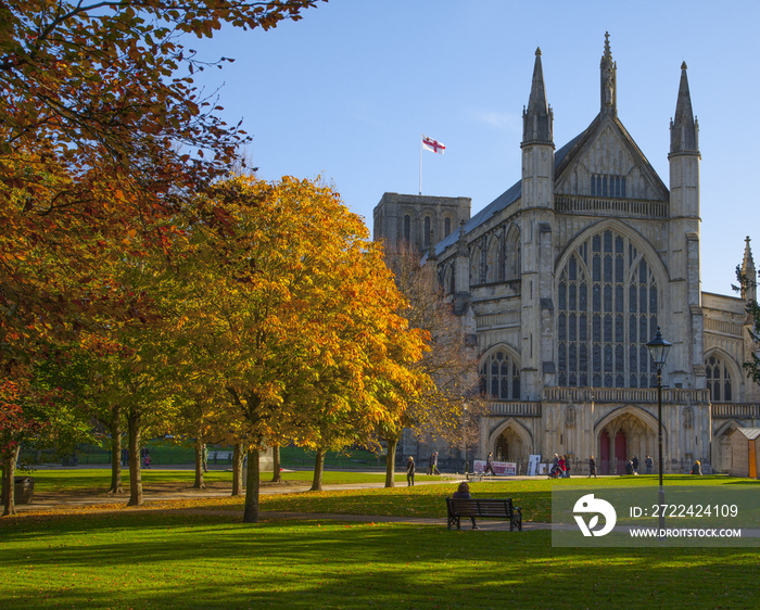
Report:
<svg viewBox="0 0 760 610"><path fill-rule="evenodd" d="M541 47L555 144L599 111L605 31L618 116L666 185L681 63L699 119L702 290L734 294L745 236L760 264L760 2L331 0L274 30L224 29L194 47L235 58L197 85L243 119L267 180L321 179L371 229L383 192L470 196L472 213L520 177L522 107ZM191 41L188 41L191 42Z"/></svg>

